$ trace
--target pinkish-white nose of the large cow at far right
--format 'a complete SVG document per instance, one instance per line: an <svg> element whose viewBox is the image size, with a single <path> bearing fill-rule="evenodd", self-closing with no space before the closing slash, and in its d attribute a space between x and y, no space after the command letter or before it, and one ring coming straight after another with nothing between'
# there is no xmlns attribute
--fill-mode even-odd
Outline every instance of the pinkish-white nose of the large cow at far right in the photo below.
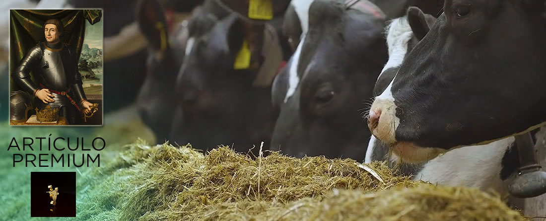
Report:
<svg viewBox="0 0 546 221"><path fill-rule="evenodd" d="M390 99L376 99L370 110L381 110L381 117L376 126L369 126L370 132L377 139L392 145L396 143L395 132L400 124L400 118L396 117L396 105Z"/></svg>

